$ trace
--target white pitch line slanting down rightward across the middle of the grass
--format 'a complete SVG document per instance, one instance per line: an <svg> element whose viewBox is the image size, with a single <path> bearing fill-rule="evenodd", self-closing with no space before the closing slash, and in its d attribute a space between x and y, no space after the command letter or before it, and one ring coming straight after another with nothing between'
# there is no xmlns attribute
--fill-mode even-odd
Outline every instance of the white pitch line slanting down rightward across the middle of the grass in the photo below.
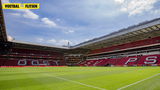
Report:
<svg viewBox="0 0 160 90"><path fill-rule="evenodd" d="M52 75L49 75L49 74L46 74L46 75L52 76ZM61 79L61 80L64 80L64 81L69 81L69 82L72 82L72 83L80 84L80 85L83 85L83 86L95 88L95 89L98 89L98 90L106 90L105 88L100 88L100 87L96 87L96 86L93 86L93 85L84 84L84 83L81 83L81 82L69 80L69 79L62 78L62 77L57 77L57 76L52 76L52 77L55 77L55 78L57 78L57 79Z"/></svg>

